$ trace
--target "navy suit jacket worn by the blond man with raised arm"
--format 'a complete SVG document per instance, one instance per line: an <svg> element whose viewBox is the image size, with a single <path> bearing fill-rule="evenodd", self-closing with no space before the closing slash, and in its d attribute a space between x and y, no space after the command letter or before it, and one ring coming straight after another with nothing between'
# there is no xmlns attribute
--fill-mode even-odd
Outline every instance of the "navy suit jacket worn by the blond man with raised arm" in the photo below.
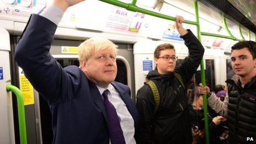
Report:
<svg viewBox="0 0 256 144"><path fill-rule="evenodd" d="M77 66L62 68L49 53L56 28L50 20L31 15L16 47L15 61L50 106L53 143L109 143L106 111L98 88ZM111 84L132 115L136 131L138 113L129 87Z"/></svg>

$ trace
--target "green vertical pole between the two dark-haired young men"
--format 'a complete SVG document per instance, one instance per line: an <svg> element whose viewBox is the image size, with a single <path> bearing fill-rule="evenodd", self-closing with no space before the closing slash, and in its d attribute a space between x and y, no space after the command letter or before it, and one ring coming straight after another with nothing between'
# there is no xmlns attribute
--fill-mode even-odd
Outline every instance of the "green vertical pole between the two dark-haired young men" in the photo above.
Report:
<svg viewBox="0 0 256 144"><path fill-rule="evenodd" d="M199 24L199 14L198 14L198 2L194 1L194 8L195 8L195 18L196 18L196 29L198 31L198 40L201 42L201 31L200 31L200 24ZM205 71L204 71L204 60L201 60L200 63L200 69L201 69L201 83L203 86L206 85L205 83ZM204 118L205 118L205 140L206 143L210 143L209 139L209 124L208 124L208 109L207 109L207 98L206 94L203 95L204 97Z"/></svg>

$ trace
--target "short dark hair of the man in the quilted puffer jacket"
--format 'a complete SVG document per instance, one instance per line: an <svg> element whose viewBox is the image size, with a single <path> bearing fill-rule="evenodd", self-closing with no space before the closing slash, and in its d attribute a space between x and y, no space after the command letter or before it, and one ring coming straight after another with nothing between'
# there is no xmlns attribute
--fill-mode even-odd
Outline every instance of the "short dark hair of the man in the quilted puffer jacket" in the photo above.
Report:
<svg viewBox="0 0 256 144"><path fill-rule="evenodd" d="M250 54L252 54L253 56L253 59L256 58L256 42L254 41L247 41L247 40L243 40L243 41L239 41L237 42L236 44L234 44L232 47L231 47L231 52L233 50L240 50L240 49L243 49L243 48L247 48L249 51L250 51Z"/></svg>

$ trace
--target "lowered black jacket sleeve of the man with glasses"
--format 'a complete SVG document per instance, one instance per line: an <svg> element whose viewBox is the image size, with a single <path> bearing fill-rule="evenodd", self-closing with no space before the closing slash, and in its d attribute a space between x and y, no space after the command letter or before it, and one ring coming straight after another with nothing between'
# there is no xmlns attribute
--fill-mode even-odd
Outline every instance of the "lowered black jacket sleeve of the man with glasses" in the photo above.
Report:
<svg viewBox="0 0 256 144"><path fill-rule="evenodd" d="M153 143L152 120L154 109L154 98L149 86L144 85L138 89L136 106L140 121L138 130L135 134L136 143Z"/></svg>

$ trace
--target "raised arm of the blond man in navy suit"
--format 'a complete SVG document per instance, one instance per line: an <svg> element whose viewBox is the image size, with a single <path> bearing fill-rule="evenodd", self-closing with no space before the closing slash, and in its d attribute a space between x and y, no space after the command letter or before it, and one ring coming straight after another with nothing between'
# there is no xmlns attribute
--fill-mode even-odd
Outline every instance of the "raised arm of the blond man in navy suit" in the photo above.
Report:
<svg viewBox="0 0 256 144"><path fill-rule="evenodd" d="M57 4L60 1L55 0L53 7L50 6L45 9L46 11L50 10L50 12L45 12L46 15L54 12L55 14L52 13L52 15L62 17L64 11L62 12L60 8L65 10L65 8L71 6L70 3L67 6L67 2L63 1L64 4ZM78 82L78 78L74 78L64 71L49 53L57 28L55 21L51 20L54 21L51 17L45 18L38 14L31 15L14 54L18 66L23 69L25 76L48 103L62 101L67 98L67 95L72 97L72 94L68 93L72 93L72 90L76 89L75 84L73 84L74 81ZM67 84L63 86L63 83ZM63 95L63 99L59 97L60 95Z"/></svg>

